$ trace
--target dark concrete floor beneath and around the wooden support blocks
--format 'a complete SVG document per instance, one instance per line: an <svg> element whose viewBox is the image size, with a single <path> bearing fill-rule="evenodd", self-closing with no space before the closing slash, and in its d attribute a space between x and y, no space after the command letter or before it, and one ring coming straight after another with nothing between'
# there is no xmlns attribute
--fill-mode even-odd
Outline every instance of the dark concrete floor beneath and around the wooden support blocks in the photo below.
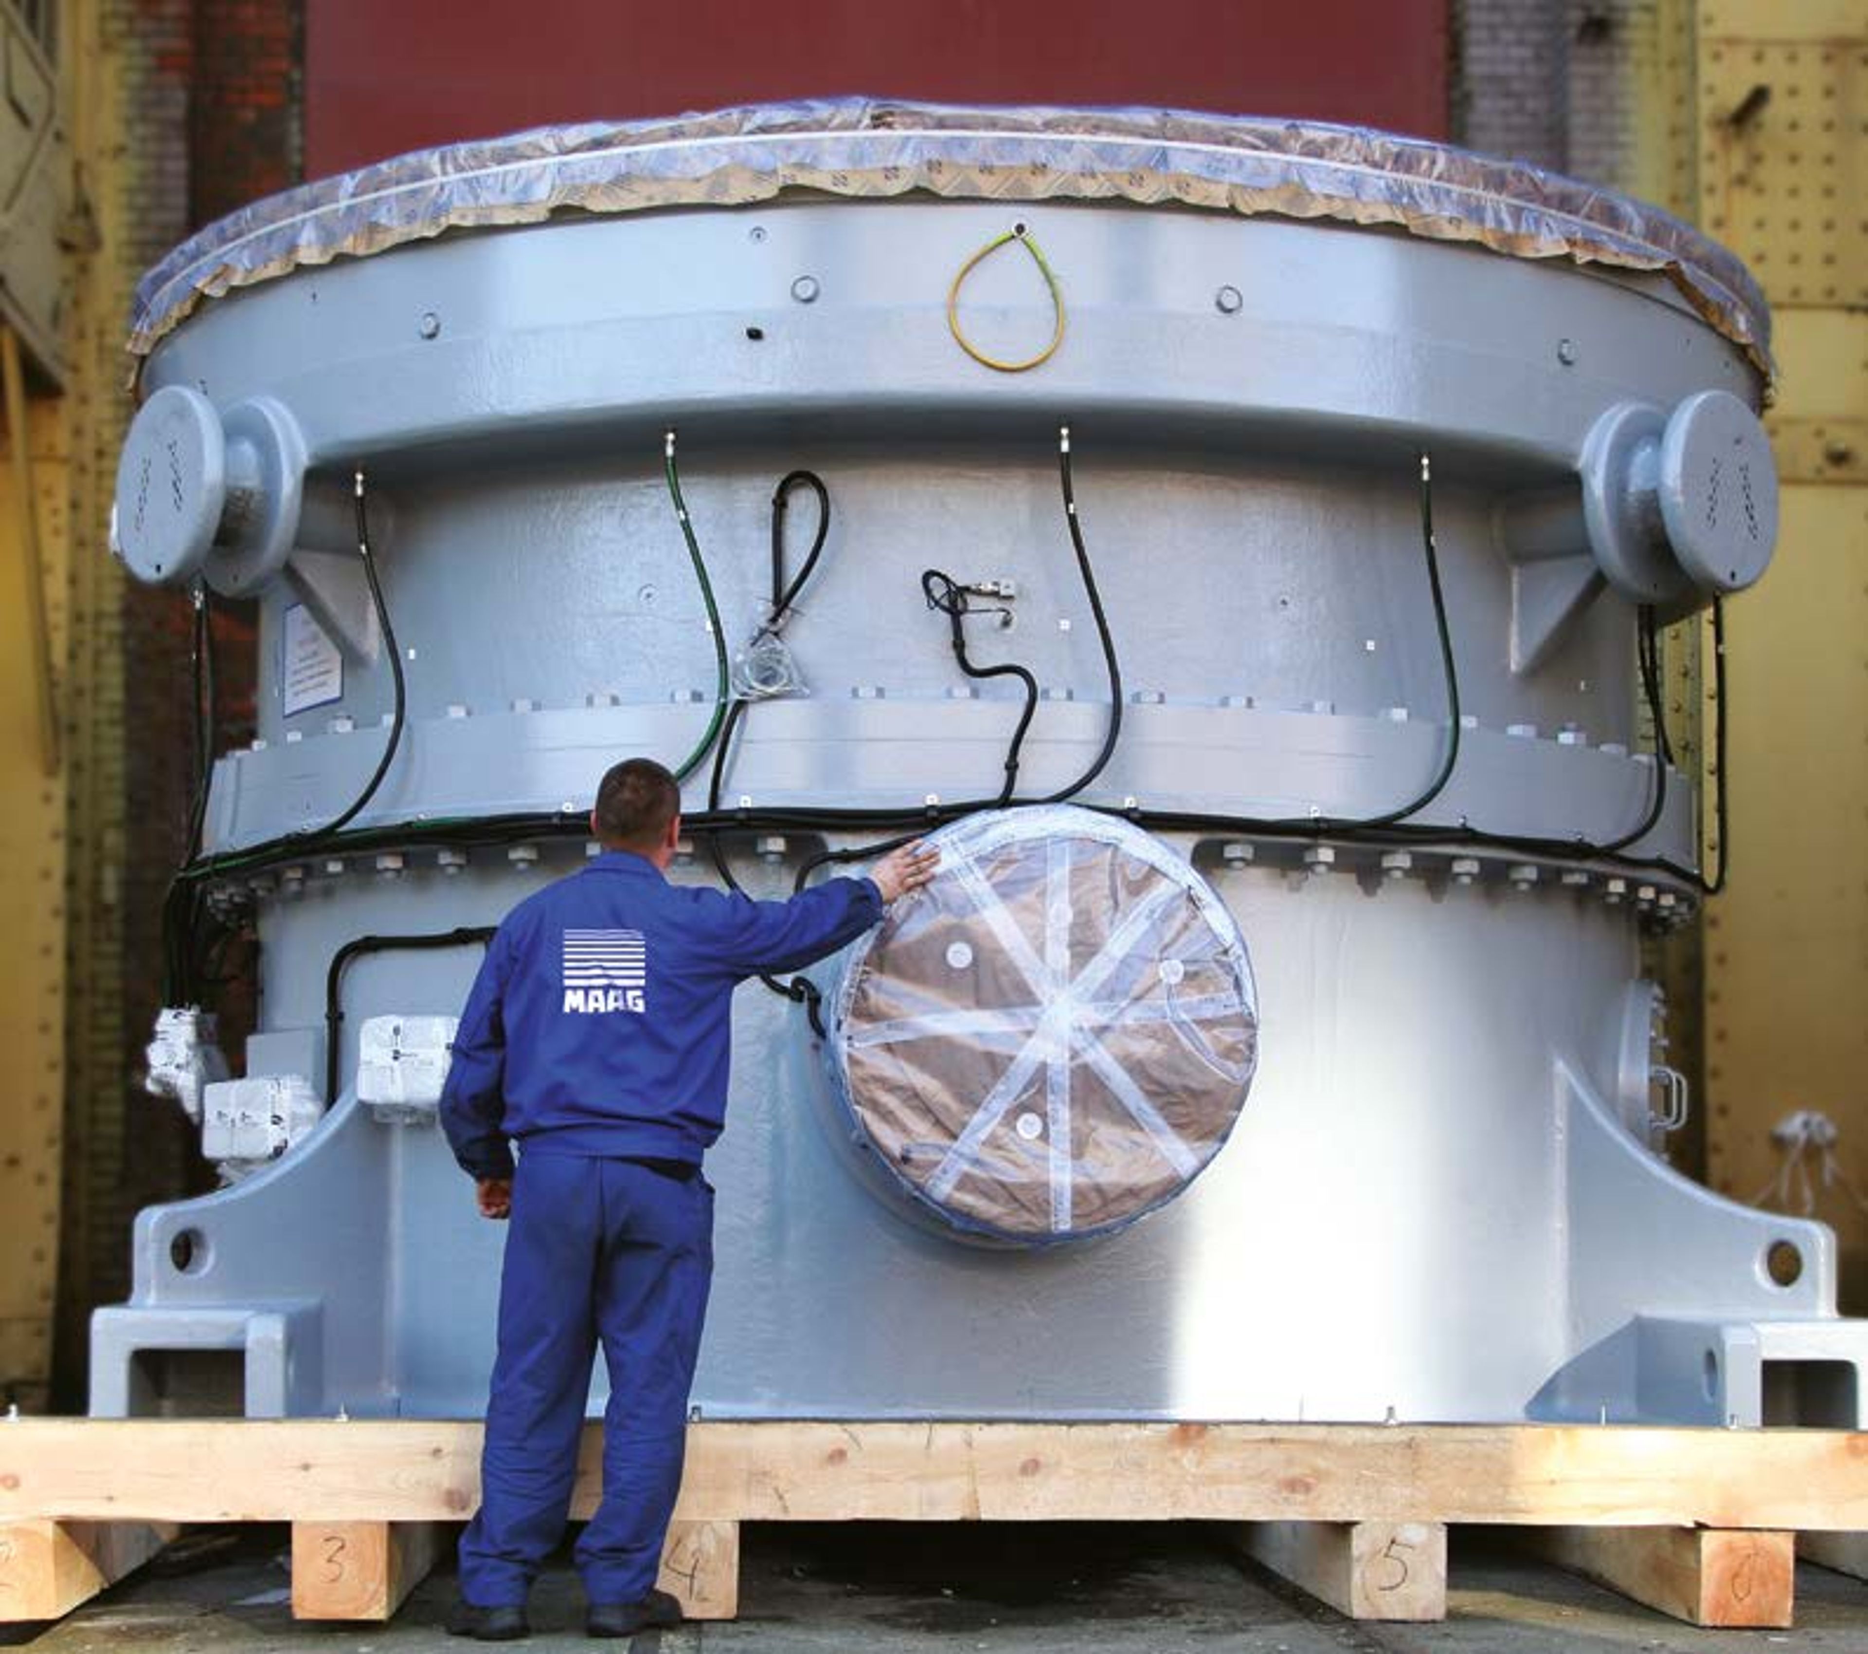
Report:
<svg viewBox="0 0 1868 1654"><path fill-rule="evenodd" d="M1489 1534L1453 1536L1450 1618L1354 1624L1229 1561L1199 1527L753 1527L742 1618L635 1639L635 1654L1590 1654L1681 1650L1868 1654L1868 1585L1797 1572L1797 1630L1696 1632ZM35 1654L460 1654L446 1637L452 1570L390 1626L293 1624L282 1529L228 1531L189 1572L125 1581L47 1630L0 1628ZM568 1566L532 1598L540 1650L594 1648Z"/></svg>

